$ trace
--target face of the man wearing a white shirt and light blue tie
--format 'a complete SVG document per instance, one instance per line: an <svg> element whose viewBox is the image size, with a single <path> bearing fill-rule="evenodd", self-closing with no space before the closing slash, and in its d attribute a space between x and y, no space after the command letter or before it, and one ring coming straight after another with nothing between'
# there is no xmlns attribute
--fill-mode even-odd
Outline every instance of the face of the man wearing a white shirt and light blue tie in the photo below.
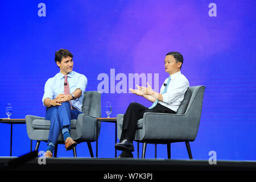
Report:
<svg viewBox="0 0 256 182"><path fill-rule="evenodd" d="M181 62L177 62L172 55L167 55L164 59L164 68L166 68L166 72L170 75L180 71Z"/></svg>

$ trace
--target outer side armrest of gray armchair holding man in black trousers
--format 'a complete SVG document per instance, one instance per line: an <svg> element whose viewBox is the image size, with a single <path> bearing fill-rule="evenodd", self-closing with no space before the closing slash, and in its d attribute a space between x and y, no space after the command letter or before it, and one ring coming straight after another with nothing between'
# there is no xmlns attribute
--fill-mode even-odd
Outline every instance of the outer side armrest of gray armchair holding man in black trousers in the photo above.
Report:
<svg viewBox="0 0 256 182"><path fill-rule="evenodd" d="M189 140L196 138L199 122L191 114L144 113L144 139Z"/></svg>

